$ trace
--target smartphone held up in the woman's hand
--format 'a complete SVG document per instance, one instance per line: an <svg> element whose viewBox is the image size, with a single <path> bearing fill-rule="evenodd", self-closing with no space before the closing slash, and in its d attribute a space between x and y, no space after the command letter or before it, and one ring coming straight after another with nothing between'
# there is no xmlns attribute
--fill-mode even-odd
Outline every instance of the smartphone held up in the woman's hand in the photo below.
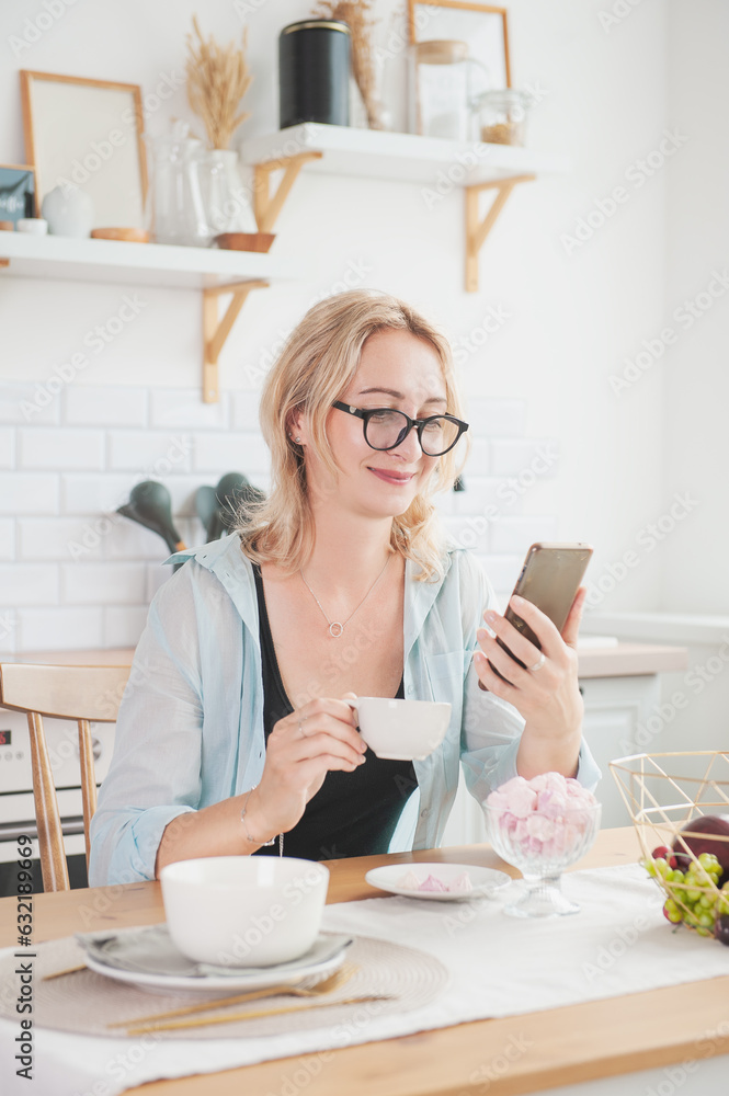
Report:
<svg viewBox="0 0 729 1096"><path fill-rule="evenodd" d="M521 574L516 580L513 594L519 594L521 597L525 597L527 602L536 605L545 616L549 617L557 630L561 632L569 610L572 607L572 602L580 589L584 572L588 569L592 552L591 545L580 543L548 544L539 541L532 545L526 553L526 559L524 560ZM514 628L521 631L522 636L534 643L536 648L542 649L537 637L529 626L514 613L511 605L506 607L504 617L513 624ZM524 666L521 659L512 654L505 643L500 639L497 639L497 642L514 662L517 662L520 666ZM491 665L491 663L489 665L503 680L503 675L499 673L496 666Z"/></svg>

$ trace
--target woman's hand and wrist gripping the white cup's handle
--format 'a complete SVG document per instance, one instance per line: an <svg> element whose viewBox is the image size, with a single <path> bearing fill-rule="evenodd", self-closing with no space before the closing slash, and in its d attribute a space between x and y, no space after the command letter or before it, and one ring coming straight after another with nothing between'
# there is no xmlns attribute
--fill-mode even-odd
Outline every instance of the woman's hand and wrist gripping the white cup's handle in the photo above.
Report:
<svg viewBox="0 0 729 1096"><path fill-rule="evenodd" d="M263 775L246 807L247 831L263 842L292 830L327 773L353 773L364 763L366 749L346 700L318 698L280 719L269 735Z"/></svg>

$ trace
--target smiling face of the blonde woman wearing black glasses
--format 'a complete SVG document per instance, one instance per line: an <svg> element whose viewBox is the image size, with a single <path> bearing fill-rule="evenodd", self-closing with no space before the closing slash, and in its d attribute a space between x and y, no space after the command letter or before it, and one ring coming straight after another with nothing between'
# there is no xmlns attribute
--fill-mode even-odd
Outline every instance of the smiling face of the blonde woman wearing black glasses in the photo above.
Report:
<svg viewBox="0 0 729 1096"><path fill-rule="evenodd" d="M431 345L409 331L385 330L365 342L360 366L340 397L362 411L395 408L411 419L447 411L441 362ZM304 425L304 424L303 424ZM307 476L314 491L362 515L395 517L403 514L424 491L437 464L425 456L413 429L395 449L371 448L364 438L363 421L333 408L327 433L340 468L337 483L310 449L306 449Z"/></svg>

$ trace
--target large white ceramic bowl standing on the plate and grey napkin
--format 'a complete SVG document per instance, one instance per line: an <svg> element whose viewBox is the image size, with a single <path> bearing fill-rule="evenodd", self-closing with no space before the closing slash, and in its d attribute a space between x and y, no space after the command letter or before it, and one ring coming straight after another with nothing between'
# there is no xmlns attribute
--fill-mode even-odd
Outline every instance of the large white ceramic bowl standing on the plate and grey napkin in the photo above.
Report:
<svg viewBox="0 0 729 1096"><path fill-rule="evenodd" d="M160 882L170 936L189 959L270 967L314 944L329 869L289 856L207 856L168 864Z"/></svg>

